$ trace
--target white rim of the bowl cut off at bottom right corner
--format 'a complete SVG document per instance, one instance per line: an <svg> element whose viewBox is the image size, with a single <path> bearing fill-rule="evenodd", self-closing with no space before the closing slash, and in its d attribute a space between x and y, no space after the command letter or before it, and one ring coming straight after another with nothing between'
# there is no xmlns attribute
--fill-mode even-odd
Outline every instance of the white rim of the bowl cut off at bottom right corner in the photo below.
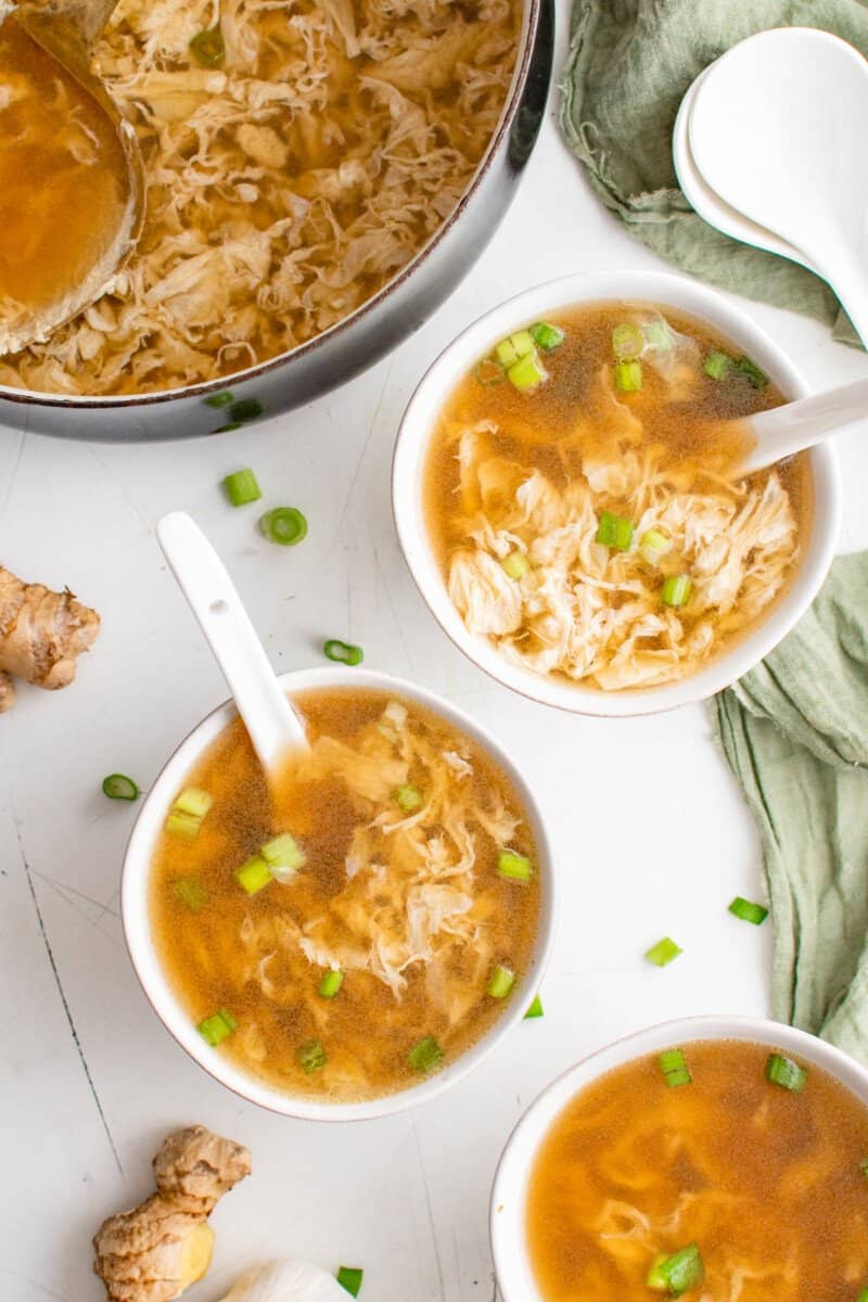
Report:
<svg viewBox="0 0 868 1302"><path fill-rule="evenodd" d="M748 1040L806 1059L834 1077L868 1108L868 1070L842 1049L795 1026L765 1017L703 1013L656 1022L593 1049L560 1073L522 1113L495 1172L488 1233L502 1302L545 1302L534 1277L524 1216L527 1185L540 1146L563 1108L610 1070L673 1043Z"/></svg>

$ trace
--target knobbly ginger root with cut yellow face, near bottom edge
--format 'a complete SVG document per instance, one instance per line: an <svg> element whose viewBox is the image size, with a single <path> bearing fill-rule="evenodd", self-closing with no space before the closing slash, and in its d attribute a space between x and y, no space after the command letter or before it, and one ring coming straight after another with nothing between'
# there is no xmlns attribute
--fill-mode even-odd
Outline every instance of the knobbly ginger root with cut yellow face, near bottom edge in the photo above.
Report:
<svg viewBox="0 0 868 1302"><path fill-rule="evenodd" d="M103 1221L94 1271L109 1302L172 1302L211 1266L208 1216L250 1174L250 1154L204 1126L164 1139L154 1159L156 1194Z"/></svg>

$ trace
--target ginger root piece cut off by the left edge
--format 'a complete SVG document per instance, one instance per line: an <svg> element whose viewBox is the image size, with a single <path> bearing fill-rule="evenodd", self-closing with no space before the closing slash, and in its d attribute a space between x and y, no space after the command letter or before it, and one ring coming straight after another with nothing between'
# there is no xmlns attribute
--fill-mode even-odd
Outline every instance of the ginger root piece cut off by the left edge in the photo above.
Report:
<svg viewBox="0 0 868 1302"><path fill-rule="evenodd" d="M66 589L22 583L0 565L0 713L14 703L12 676L38 687L65 687L75 677L75 656L99 633L99 615Z"/></svg>

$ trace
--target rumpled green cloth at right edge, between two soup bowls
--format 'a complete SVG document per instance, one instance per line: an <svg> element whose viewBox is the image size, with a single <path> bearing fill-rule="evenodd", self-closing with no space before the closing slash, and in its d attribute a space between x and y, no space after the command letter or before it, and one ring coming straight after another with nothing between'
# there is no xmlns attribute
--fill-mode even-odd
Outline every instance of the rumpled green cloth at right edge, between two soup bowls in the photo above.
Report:
<svg viewBox="0 0 868 1302"><path fill-rule="evenodd" d="M711 708L763 833L772 1014L868 1064L868 552Z"/></svg>

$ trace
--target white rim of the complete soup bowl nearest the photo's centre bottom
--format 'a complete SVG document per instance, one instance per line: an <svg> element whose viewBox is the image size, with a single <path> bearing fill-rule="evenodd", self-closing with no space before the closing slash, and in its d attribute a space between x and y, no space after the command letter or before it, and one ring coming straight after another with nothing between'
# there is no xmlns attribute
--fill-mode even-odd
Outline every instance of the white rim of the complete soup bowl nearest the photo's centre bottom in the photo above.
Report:
<svg viewBox="0 0 868 1302"><path fill-rule="evenodd" d="M442 697L393 674L359 668L311 668L297 669L278 674L278 681L288 693L311 689L372 689L390 691L397 697L415 700L448 723L465 730L470 738L504 769L515 786L522 806L526 810L531 833L537 849L539 868L545 883L540 896L540 918L532 958L527 971L513 992L513 996L489 1029L475 1040L453 1062L432 1077L394 1094L357 1103L328 1103L315 1098L285 1094L281 1090L258 1081L236 1068L213 1047L206 1044L198 1034L189 1014L181 1006L169 984L151 936L148 887L151 854L156 837L163 827L165 811L170 799L183 781L183 776L202 756L203 751L223 732L228 723L238 716L232 700L224 700L210 711L178 743L165 762L138 811L124 854L121 870L121 923L130 962L138 976L142 991L152 1010L181 1046L182 1049L207 1072L215 1081L232 1090L249 1103L254 1103L281 1116L306 1121L367 1121L390 1116L416 1107L442 1094L461 1081L501 1043L502 1039L524 1017L527 1003L539 991L554 945L558 918L558 880L552 841L547 831L547 820L540 809L534 788L515 764L506 747L471 715Z"/></svg>

